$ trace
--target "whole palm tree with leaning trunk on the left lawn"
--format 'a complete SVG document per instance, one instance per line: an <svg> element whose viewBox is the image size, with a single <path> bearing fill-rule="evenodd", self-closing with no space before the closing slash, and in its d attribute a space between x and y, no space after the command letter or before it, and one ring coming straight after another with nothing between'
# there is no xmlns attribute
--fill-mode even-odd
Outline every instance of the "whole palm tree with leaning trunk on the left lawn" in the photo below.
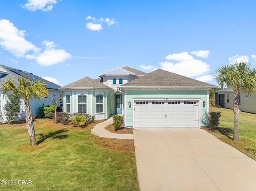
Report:
<svg viewBox="0 0 256 191"><path fill-rule="evenodd" d="M48 95L48 89L45 87L47 83L40 80L30 80L27 77L18 77L18 81L8 79L3 84L4 93L11 91L15 95L19 96L24 100L25 103L25 119L30 138L30 145L36 146L36 134L34 129L34 119L31 113L29 100L32 98L42 100L42 98Z"/></svg>

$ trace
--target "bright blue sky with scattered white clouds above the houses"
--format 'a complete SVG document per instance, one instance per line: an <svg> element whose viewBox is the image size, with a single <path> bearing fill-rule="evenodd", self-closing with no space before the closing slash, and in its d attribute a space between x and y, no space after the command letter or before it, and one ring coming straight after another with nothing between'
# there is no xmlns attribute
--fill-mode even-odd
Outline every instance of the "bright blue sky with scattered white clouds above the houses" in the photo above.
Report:
<svg viewBox="0 0 256 191"><path fill-rule="evenodd" d="M256 67L255 0L0 0L0 64L67 85L115 67L215 84Z"/></svg>

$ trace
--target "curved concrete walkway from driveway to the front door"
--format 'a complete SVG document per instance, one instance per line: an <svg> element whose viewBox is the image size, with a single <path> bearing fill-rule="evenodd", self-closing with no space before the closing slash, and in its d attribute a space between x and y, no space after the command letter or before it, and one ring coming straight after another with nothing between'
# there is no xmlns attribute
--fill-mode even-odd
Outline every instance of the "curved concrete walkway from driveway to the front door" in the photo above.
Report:
<svg viewBox="0 0 256 191"><path fill-rule="evenodd" d="M118 133L112 133L106 130L105 127L112 123L113 123L113 117L94 126L94 128L91 130L91 133L96 136L105 137L105 138L133 139L133 134L118 134Z"/></svg>

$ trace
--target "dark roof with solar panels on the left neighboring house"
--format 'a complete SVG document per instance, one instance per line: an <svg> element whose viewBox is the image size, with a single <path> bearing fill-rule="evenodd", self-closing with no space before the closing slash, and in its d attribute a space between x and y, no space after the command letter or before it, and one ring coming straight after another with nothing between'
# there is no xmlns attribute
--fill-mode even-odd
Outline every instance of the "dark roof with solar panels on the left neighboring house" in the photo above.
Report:
<svg viewBox="0 0 256 191"><path fill-rule="evenodd" d="M16 68L12 68L12 67L8 67L5 65L1 65L0 64L0 72L4 75L0 76L0 85L4 84L6 82L7 79L17 79L17 77L19 77L20 75L23 77L28 77L31 80L41 80L42 82L47 83L47 85L45 86L47 89L59 89L61 86L50 82L46 79L43 79L41 77L38 77L37 75L34 75L32 73L29 73L27 71L23 71L20 69L16 69Z"/></svg>

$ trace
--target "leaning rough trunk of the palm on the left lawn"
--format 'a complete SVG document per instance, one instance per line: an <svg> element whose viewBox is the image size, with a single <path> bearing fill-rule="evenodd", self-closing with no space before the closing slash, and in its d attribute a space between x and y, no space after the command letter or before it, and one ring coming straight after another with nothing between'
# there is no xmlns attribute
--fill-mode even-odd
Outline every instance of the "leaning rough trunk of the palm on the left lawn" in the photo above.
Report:
<svg viewBox="0 0 256 191"><path fill-rule="evenodd" d="M30 105L28 102L25 102L25 113L26 113L26 126L28 130L28 135L30 138L30 145L37 146L36 143L36 133L34 129L34 119L31 113Z"/></svg>

